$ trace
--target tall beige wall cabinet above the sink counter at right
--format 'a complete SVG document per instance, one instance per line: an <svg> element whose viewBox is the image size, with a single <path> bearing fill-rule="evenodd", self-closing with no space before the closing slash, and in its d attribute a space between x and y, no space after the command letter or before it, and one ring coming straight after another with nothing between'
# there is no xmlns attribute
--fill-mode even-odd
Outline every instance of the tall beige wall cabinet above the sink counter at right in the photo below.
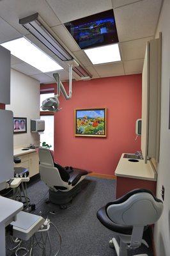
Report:
<svg viewBox="0 0 170 256"><path fill-rule="evenodd" d="M160 132L160 49L161 37L148 42L143 66L141 150L158 162Z"/></svg>

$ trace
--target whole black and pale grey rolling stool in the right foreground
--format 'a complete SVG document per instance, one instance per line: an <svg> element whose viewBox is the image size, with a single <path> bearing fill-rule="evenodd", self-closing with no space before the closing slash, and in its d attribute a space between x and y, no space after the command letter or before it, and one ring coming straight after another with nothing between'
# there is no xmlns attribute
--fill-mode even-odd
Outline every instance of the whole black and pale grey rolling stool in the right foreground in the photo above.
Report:
<svg viewBox="0 0 170 256"><path fill-rule="evenodd" d="M115 248L118 256L127 256L128 249L138 248L142 243L148 246L143 231L158 221L162 211L162 201L150 190L134 189L98 210L97 218L114 234L109 246Z"/></svg>

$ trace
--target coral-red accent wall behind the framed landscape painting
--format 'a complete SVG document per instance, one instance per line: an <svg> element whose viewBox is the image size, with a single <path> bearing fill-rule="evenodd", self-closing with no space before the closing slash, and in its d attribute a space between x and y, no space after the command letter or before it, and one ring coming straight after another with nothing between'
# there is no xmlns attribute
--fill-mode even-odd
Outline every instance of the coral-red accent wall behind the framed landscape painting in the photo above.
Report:
<svg viewBox="0 0 170 256"><path fill-rule="evenodd" d="M61 96L62 109L54 115L55 160L63 166L114 175L121 154L141 148L140 138L135 141L141 93L141 74L73 82L72 99ZM107 138L74 136L73 114L79 108L107 108Z"/></svg>

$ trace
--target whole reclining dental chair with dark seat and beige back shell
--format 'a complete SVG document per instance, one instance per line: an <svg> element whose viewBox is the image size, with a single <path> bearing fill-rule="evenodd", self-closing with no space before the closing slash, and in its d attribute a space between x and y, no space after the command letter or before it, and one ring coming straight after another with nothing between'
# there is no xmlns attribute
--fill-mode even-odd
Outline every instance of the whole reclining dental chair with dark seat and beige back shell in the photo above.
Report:
<svg viewBox="0 0 170 256"><path fill-rule="evenodd" d="M88 175L87 171L72 168L66 170L63 166L54 163L48 148L39 148L40 177L49 187L49 202L59 204L65 209L72 198L81 191L82 180Z"/></svg>

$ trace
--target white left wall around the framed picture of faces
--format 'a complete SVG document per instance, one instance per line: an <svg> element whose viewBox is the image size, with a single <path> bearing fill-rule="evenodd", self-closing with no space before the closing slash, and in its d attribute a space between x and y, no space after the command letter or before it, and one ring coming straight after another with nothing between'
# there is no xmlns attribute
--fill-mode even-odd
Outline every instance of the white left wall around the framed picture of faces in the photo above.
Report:
<svg viewBox="0 0 170 256"><path fill-rule="evenodd" d="M11 104L6 109L13 111L13 116L27 118L27 133L14 134L13 144L16 147L26 147L30 143L36 145L40 136L31 133L31 118L40 118L40 83L16 70L11 70Z"/></svg>

